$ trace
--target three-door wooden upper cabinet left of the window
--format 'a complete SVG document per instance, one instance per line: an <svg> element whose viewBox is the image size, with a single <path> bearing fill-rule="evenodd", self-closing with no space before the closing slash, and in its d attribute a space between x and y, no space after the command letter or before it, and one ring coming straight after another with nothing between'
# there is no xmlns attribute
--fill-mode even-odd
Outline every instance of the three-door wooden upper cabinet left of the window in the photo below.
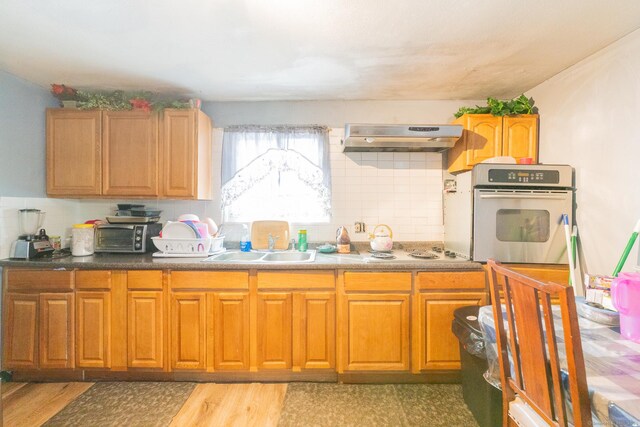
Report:
<svg viewBox="0 0 640 427"><path fill-rule="evenodd" d="M211 199L211 120L200 110L47 110L47 194Z"/></svg>

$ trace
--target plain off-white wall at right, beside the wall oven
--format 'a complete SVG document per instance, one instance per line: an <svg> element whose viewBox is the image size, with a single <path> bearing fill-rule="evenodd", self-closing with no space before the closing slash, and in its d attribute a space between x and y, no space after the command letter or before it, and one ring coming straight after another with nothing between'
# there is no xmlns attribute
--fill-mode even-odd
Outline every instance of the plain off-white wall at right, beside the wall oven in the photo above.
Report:
<svg viewBox="0 0 640 427"><path fill-rule="evenodd" d="M576 170L587 271L611 274L640 218L640 31L527 92L540 160ZM636 243L623 271L637 265Z"/></svg>

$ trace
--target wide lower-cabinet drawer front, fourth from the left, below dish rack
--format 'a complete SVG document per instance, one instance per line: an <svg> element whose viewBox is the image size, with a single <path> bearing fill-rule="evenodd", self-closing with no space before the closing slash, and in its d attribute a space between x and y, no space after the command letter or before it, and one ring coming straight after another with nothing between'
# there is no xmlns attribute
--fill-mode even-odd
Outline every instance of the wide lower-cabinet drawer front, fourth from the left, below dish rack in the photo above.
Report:
<svg viewBox="0 0 640 427"><path fill-rule="evenodd" d="M249 289L247 271L172 271L171 289Z"/></svg>

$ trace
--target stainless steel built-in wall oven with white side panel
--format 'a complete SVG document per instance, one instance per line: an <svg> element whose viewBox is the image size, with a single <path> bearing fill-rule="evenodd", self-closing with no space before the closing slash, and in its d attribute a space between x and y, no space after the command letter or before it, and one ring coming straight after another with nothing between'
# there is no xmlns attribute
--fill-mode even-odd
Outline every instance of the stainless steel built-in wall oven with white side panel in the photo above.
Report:
<svg viewBox="0 0 640 427"><path fill-rule="evenodd" d="M444 197L446 249L481 262L567 263L561 218L573 220L571 166L482 163L455 184Z"/></svg>

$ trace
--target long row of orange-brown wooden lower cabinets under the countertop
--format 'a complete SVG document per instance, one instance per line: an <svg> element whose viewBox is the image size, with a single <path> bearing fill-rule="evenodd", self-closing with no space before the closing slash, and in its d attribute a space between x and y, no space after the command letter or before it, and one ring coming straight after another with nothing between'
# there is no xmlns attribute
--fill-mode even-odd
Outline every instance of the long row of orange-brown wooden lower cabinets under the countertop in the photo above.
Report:
<svg viewBox="0 0 640 427"><path fill-rule="evenodd" d="M455 372L453 311L488 301L482 270L9 268L4 279L4 369L140 378Z"/></svg>

